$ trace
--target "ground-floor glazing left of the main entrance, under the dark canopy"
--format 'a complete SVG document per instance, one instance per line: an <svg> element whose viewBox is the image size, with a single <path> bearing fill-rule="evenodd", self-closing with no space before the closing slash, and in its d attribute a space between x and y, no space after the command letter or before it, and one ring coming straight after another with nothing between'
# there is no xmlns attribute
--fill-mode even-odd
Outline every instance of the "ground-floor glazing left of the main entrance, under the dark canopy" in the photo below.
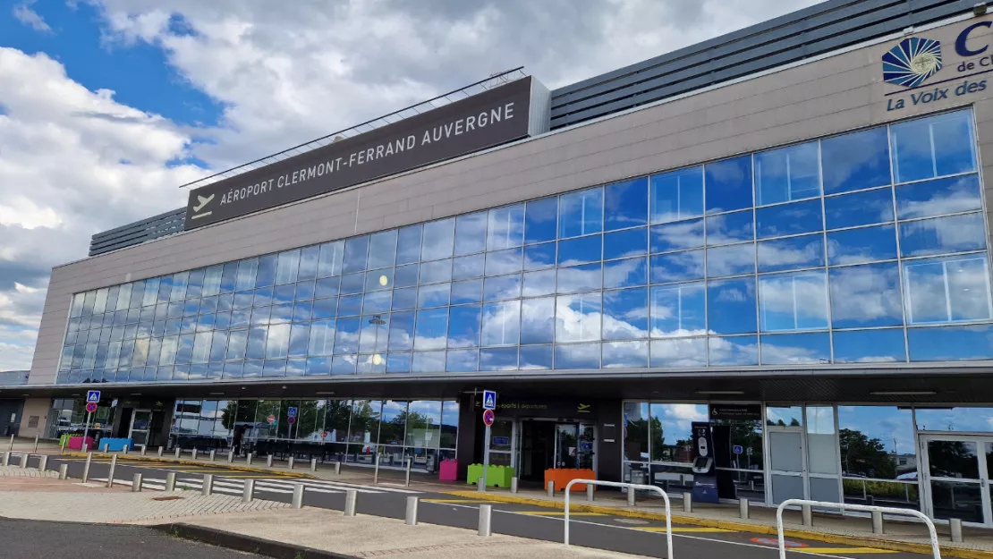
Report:
<svg viewBox="0 0 993 559"><path fill-rule="evenodd" d="M296 419L290 423L290 408ZM170 446L218 449L246 427L242 452L437 472L455 459L459 404L454 400L177 400Z"/></svg>

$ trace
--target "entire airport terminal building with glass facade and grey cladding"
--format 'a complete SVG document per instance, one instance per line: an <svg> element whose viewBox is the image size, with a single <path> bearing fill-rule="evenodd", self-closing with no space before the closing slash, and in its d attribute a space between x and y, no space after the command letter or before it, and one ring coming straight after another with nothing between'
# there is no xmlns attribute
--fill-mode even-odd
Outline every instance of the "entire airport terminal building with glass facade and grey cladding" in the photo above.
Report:
<svg viewBox="0 0 993 559"><path fill-rule="evenodd" d="M57 438L97 387L91 431L135 444L242 426L463 480L489 445L521 483L673 491L704 429L720 498L993 527L973 4L830 0L553 90L514 70L205 179L53 270L0 408Z"/></svg>

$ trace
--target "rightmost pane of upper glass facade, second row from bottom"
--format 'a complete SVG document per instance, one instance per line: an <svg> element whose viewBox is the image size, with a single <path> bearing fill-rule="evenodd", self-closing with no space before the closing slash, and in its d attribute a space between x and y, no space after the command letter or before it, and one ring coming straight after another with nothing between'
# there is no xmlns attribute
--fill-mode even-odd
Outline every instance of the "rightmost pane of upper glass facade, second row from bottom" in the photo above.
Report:
<svg viewBox="0 0 993 559"><path fill-rule="evenodd" d="M990 289L985 255L904 262L910 324L987 320Z"/></svg>

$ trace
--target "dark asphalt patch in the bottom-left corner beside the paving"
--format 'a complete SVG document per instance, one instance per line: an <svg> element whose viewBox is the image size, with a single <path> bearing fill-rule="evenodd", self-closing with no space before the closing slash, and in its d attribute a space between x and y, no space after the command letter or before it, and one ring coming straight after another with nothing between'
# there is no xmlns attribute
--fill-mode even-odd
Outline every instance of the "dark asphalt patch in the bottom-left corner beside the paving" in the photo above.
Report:
<svg viewBox="0 0 993 559"><path fill-rule="evenodd" d="M78 522L44 522L0 518L0 557L51 559L261 559L261 555L231 551L174 538L151 528Z"/></svg>

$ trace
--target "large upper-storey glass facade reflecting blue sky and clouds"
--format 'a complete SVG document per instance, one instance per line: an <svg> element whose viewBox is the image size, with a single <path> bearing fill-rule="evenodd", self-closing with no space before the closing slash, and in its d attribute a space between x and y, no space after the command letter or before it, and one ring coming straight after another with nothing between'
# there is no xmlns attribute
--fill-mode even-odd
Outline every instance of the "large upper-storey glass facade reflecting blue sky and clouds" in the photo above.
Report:
<svg viewBox="0 0 993 559"><path fill-rule="evenodd" d="M76 294L59 382L993 357L968 110Z"/></svg>

